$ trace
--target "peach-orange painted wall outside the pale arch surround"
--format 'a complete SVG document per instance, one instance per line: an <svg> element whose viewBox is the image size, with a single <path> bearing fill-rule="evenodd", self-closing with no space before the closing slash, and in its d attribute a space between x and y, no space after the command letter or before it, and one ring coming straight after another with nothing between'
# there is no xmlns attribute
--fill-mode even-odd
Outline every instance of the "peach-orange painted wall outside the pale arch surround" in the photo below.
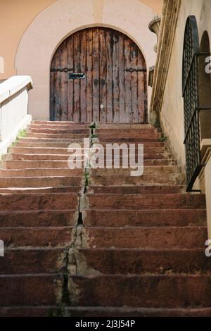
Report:
<svg viewBox="0 0 211 331"><path fill-rule="evenodd" d="M71 2L71 0L69 0ZM86 1L86 0L84 0ZM101 14L101 0L93 0L96 15ZM120 6L121 6L121 1ZM129 1L129 0L128 0ZM139 0L160 14L163 0ZM0 80L16 74L15 54L18 44L34 18L56 0L1 0L0 1L0 57L4 58L4 73L0 70ZM140 22L141 24L141 22Z"/></svg>

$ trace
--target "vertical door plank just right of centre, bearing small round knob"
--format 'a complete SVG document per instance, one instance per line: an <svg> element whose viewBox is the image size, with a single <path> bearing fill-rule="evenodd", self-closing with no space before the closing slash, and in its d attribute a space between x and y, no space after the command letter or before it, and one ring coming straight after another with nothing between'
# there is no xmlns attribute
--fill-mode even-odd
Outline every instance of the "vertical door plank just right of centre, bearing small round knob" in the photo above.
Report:
<svg viewBox="0 0 211 331"><path fill-rule="evenodd" d="M99 29L99 51L100 51L100 105L103 105L103 108L100 107L100 121L102 123L106 122L106 35L105 29Z"/></svg>

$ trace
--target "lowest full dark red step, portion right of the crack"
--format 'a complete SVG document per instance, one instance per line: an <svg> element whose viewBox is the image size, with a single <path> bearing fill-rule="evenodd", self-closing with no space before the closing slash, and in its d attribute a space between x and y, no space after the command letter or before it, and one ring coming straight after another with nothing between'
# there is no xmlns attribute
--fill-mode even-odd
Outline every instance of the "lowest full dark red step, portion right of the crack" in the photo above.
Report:
<svg viewBox="0 0 211 331"><path fill-rule="evenodd" d="M70 277L72 306L210 307L211 276Z"/></svg>

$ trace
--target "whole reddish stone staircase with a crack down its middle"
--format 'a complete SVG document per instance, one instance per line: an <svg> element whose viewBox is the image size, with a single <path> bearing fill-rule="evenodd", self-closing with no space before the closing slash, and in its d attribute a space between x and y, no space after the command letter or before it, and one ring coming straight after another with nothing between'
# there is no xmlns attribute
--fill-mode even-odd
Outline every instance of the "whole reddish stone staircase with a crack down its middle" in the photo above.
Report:
<svg viewBox="0 0 211 331"><path fill-rule="evenodd" d="M0 170L0 316L211 316L205 196L152 125L38 122ZM144 144L144 173L68 168L68 146Z"/></svg>

